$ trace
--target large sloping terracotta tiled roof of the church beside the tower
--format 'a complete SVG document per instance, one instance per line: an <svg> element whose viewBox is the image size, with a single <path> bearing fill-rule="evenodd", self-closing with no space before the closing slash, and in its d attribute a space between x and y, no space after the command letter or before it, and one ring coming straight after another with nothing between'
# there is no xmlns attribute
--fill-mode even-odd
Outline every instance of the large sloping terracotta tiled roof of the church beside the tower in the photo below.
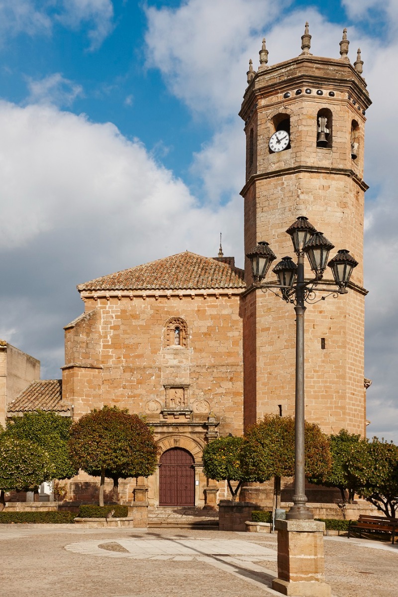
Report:
<svg viewBox="0 0 398 597"><path fill-rule="evenodd" d="M245 288L243 270L185 251L79 284L78 290Z"/></svg>

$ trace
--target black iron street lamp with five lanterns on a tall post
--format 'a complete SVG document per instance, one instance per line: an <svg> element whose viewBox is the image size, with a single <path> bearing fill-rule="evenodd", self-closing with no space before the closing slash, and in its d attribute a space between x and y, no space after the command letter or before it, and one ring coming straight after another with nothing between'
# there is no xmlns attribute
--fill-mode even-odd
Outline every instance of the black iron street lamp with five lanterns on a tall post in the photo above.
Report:
<svg viewBox="0 0 398 597"><path fill-rule="evenodd" d="M272 270L277 275L277 283L263 282L271 262L276 259L267 242L259 242L247 257L251 260L255 285L263 291L271 290L276 296L294 304L296 312L294 505L286 513L286 519L310 520L313 515L306 505L304 469L304 313L306 312L304 303L317 302L316 292L328 293L326 296L323 294L318 300L325 300L331 295L337 297L338 294L346 294L352 270L358 263L346 249L338 251L328 263L329 252L334 245L323 236L322 232L317 232L306 216L299 216L286 232L291 236L297 255L297 265L291 257L283 257ZM304 278L305 255L315 276L310 280ZM332 291L330 287L317 286L322 280L326 265L331 268L337 285L337 289ZM273 288L278 289L281 294L274 292Z"/></svg>

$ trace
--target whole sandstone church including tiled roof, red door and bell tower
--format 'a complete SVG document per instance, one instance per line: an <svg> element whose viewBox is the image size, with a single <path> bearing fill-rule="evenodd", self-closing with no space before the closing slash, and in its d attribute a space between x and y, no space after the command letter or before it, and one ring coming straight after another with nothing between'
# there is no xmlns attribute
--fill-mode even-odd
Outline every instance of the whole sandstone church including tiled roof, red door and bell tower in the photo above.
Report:
<svg viewBox="0 0 398 597"><path fill-rule="evenodd" d="M285 231L307 216L359 261L348 294L307 309L306 418L326 433L344 427L365 435L363 144L371 101L360 54L351 64L345 33L340 59L312 56L308 29L302 41L300 56L274 66L264 41L260 67L249 68L240 110L245 253L267 241L279 259L291 254ZM276 131L288 132L289 144L273 152ZM331 274L325 278L332 287ZM49 408L73 420L103 405L146 416L159 467L152 478L125 482L123 500L216 503L225 494L203 475L206 443L242 435L266 413L294 414L294 309L255 287L249 260L243 271L221 247L218 257L186 251L78 291L84 313L65 327L62 384ZM17 398L9 415L34 407L29 387L24 407ZM79 475L69 482L70 497L88 499L90 487L92 478Z"/></svg>

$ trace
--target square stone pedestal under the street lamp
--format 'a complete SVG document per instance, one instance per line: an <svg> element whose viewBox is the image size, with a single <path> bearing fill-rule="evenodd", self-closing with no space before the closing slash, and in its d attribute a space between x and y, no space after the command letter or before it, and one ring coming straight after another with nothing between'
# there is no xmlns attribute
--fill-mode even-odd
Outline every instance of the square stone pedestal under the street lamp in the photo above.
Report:
<svg viewBox="0 0 398 597"><path fill-rule="evenodd" d="M276 520L278 578L272 588L282 595L330 597L323 559L324 522Z"/></svg>

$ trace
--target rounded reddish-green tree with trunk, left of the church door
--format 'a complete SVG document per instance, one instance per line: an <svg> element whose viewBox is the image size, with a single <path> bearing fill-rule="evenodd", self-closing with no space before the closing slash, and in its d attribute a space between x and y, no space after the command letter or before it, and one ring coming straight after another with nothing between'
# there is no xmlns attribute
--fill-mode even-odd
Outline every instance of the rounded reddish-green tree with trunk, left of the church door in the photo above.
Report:
<svg viewBox="0 0 398 597"><path fill-rule="evenodd" d="M119 479L148 477L158 460L152 430L136 414L117 407L93 410L73 423L69 448L76 466L88 475L100 476L100 506L104 505L106 477L113 479L117 501Z"/></svg>

